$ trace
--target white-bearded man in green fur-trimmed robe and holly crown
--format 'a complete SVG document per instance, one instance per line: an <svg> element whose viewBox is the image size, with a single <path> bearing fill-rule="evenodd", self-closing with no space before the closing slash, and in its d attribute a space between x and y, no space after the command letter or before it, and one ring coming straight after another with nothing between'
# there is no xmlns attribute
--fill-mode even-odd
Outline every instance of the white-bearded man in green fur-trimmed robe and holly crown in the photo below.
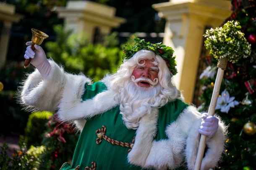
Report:
<svg viewBox="0 0 256 170"><path fill-rule="evenodd" d="M136 39L125 46L117 73L92 82L72 75L31 42L24 57L37 69L24 82L21 103L29 109L57 110L81 132L72 165L61 170L192 170L200 134L207 136L201 169L217 166L225 147L225 125L184 103L172 83L171 47Z"/></svg>

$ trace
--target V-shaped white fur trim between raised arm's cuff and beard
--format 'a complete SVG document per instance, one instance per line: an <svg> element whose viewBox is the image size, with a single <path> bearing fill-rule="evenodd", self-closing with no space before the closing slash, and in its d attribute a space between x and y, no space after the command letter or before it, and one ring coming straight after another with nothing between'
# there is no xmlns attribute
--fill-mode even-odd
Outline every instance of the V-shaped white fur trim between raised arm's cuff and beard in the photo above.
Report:
<svg viewBox="0 0 256 170"><path fill-rule="evenodd" d="M104 113L107 110L118 105L114 100L114 93L111 90L98 93L94 98L82 101L84 93L84 79L73 77L68 79L63 89L63 98L59 104L59 118L62 121L72 121L81 118L91 118L97 114Z"/></svg>

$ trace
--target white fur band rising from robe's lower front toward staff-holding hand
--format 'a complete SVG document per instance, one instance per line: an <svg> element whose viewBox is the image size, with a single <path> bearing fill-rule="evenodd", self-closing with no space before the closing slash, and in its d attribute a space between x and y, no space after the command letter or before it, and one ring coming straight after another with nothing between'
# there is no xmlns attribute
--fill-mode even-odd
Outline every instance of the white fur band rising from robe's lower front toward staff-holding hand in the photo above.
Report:
<svg viewBox="0 0 256 170"><path fill-rule="evenodd" d="M189 106L186 110L193 109ZM183 160L188 131L193 126L193 120L199 116L195 113L183 111L176 121L167 126L165 132L168 139L154 141L149 157L146 161L147 167L157 170L175 169Z"/></svg>

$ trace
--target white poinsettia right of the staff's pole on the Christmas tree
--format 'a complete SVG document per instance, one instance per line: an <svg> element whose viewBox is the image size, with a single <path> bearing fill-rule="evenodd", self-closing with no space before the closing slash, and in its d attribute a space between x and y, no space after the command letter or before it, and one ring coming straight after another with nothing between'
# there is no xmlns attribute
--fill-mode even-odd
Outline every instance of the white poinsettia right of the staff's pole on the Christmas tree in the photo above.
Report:
<svg viewBox="0 0 256 170"><path fill-rule="evenodd" d="M238 104L239 102L235 100L235 97L230 97L228 91L225 89L218 98L215 109L220 109L221 112L228 113L230 108L234 108Z"/></svg>

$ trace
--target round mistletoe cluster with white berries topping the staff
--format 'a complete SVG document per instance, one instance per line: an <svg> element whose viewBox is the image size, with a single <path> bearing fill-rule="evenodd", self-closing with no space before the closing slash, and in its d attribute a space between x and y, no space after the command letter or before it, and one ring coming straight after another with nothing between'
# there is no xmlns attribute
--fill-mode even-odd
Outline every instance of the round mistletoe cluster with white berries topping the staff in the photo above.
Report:
<svg viewBox="0 0 256 170"><path fill-rule="evenodd" d="M251 54L251 44L248 43L240 28L238 21L228 21L223 27L208 29L203 35L207 37L204 46L210 49L210 54L213 54L216 59L227 58L235 63L242 57L247 58Z"/></svg>

